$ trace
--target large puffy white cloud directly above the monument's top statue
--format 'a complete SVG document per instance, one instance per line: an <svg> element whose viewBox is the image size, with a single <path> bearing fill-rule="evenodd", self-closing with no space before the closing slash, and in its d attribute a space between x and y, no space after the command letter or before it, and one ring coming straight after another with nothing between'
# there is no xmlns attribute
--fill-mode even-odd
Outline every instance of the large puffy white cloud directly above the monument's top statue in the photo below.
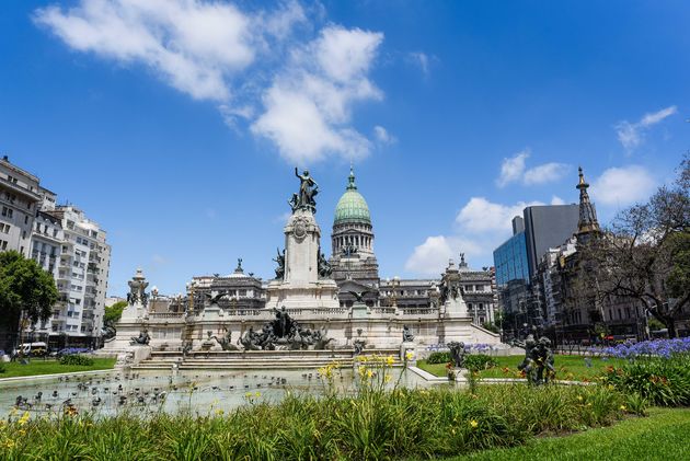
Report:
<svg viewBox="0 0 690 461"><path fill-rule="evenodd" d="M349 159L369 153L370 141L349 126L357 101L380 100L367 72L383 35L329 26L295 50L288 68L264 93L265 112L252 125L280 153L300 164L327 154Z"/></svg>

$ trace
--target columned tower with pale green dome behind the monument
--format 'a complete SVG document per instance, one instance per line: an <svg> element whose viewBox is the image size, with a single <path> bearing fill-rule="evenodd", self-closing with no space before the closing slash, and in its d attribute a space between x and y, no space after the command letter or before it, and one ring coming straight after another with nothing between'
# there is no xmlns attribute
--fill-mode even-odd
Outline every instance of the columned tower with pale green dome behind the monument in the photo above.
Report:
<svg viewBox="0 0 690 461"><path fill-rule="evenodd" d="M340 288L341 306L352 306L349 291L368 291L365 301L378 300L379 263L373 254L373 228L367 200L357 191L355 172L349 169L345 193L337 201L331 233L331 267Z"/></svg>

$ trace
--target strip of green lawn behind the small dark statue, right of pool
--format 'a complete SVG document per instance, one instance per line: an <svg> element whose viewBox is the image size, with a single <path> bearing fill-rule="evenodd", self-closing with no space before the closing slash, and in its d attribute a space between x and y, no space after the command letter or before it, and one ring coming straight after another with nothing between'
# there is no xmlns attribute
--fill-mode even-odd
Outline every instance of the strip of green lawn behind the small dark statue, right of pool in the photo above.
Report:
<svg viewBox="0 0 690 461"><path fill-rule="evenodd" d="M482 378L518 378L517 366L522 361L522 358L524 356L495 357L498 366L482 370L480 376ZM555 357L556 379L577 381L591 379L603 371L606 367L619 367L622 364L623 360L620 359L591 358L591 368L587 368L584 357L559 355ZM446 376L446 364L427 364L426 360L418 360L417 367L437 377Z"/></svg>

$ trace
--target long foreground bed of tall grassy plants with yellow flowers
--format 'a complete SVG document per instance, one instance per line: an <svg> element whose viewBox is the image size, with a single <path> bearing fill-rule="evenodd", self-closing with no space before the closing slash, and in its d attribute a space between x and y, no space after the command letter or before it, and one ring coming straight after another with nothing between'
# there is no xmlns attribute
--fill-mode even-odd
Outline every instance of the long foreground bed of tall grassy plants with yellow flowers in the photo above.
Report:
<svg viewBox="0 0 690 461"><path fill-rule="evenodd" d="M4 459L440 458L608 425L623 415L624 402L600 385L288 392L278 404L252 399L206 415L59 412L22 422L16 414L0 430L0 447Z"/></svg>

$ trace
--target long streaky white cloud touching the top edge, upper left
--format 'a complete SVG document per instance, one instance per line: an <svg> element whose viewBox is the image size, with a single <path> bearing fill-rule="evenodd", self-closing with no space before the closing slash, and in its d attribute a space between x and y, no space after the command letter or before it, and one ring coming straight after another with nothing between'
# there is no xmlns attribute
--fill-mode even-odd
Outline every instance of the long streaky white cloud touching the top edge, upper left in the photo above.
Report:
<svg viewBox="0 0 690 461"><path fill-rule="evenodd" d="M226 78L255 58L252 20L228 3L82 0L34 18L73 49L145 64L198 100L229 100Z"/></svg>

